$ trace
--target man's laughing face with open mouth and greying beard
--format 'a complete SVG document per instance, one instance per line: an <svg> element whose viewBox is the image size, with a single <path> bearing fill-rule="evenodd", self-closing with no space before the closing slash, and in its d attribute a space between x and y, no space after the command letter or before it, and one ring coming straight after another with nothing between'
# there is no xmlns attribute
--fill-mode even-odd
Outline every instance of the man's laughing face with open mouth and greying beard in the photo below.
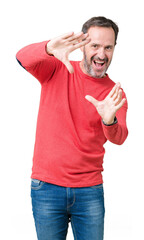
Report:
<svg viewBox="0 0 144 240"><path fill-rule="evenodd" d="M96 26L89 28L88 34L91 41L81 48L83 60L80 66L89 76L102 78L112 60L115 33L112 28Z"/></svg>

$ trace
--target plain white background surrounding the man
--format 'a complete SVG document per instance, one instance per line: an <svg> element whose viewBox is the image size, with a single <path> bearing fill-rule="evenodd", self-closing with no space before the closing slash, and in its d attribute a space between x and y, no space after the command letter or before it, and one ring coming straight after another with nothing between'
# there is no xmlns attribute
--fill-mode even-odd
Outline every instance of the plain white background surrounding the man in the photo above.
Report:
<svg viewBox="0 0 144 240"><path fill-rule="evenodd" d="M30 175L40 84L21 68L16 52L34 42L79 32L93 16L118 23L108 74L121 82L129 109L129 136L107 142L104 158L105 240L144 239L143 5L142 0L13 0L0 5L0 239L36 240ZM81 59L80 51L71 55ZM67 239L73 239L71 225ZM88 239L90 240L90 239Z"/></svg>

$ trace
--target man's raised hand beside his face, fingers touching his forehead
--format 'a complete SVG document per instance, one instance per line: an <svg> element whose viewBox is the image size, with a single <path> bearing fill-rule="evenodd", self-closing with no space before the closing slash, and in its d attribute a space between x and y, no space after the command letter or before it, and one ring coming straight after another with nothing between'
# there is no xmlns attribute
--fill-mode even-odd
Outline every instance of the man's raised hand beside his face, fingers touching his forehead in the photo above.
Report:
<svg viewBox="0 0 144 240"><path fill-rule="evenodd" d="M49 41L47 44L47 53L54 55L65 64L70 73L73 73L73 67L68 59L69 54L89 42L90 39L88 39L88 33L67 33Z"/></svg>

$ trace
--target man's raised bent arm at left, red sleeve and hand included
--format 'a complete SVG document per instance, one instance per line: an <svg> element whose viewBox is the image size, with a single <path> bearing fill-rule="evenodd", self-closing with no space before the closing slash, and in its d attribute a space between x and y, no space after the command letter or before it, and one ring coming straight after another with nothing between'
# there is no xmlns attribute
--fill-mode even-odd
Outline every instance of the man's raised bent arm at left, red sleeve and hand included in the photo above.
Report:
<svg viewBox="0 0 144 240"><path fill-rule="evenodd" d="M21 49L16 58L20 65L42 84L51 78L60 62L67 67L70 73L73 73L68 56L72 51L86 45L89 41L87 33L74 34L71 32L51 41L31 44Z"/></svg>

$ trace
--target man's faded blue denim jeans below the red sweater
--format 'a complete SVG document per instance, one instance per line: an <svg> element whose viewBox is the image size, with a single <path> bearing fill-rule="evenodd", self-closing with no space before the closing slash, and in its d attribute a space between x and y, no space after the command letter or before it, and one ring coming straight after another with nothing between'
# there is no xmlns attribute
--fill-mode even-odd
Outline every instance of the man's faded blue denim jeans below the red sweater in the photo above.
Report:
<svg viewBox="0 0 144 240"><path fill-rule="evenodd" d="M69 222L75 240L103 240L103 185L62 187L31 181L33 216L38 240L65 240Z"/></svg>

